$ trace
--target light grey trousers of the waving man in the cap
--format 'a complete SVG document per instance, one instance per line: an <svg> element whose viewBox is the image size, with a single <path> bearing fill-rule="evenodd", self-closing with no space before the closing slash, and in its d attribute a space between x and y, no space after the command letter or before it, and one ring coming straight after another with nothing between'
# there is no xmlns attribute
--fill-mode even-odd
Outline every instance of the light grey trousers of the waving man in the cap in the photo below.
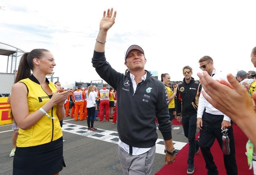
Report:
<svg viewBox="0 0 256 175"><path fill-rule="evenodd" d="M119 146L118 157L121 161L124 175L149 175L153 169L155 146L141 155L129 155Z"/></svg>

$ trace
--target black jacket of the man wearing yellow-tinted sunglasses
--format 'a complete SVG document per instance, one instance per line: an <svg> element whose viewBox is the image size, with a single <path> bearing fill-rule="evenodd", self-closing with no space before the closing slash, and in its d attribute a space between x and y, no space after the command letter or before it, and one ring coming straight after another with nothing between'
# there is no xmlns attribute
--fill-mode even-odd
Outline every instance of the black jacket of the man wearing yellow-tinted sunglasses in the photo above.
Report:
<svg viewBox="0 0 256 175"><path fill-rule="evenodd" d="M188 84L186 83L185 78L183 79L183 83L178 85L176 94L177 106L175 107L177 116L180 116L182 114L197 114L197 107L201 89L201 84L196 82L194 78L192 78Z"/></svg>

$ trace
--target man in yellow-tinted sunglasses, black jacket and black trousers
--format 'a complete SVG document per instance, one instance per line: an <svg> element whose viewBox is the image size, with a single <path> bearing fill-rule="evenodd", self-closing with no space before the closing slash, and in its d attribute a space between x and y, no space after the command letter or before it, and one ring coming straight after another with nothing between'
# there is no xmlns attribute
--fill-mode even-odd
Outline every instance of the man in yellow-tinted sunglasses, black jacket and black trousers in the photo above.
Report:
<svg viewBox="0 0 256 175"><path fill-rule="evenodd" d="M184 135L188 138L188 168L187 174L194 173L194 155L199 152L199 144L195 134L197 129L197 105L201 92L201 84L192 78L192 68L185 66L183 68L183 83L178 85L177 89L177 120L182 116L182 125Z"/></svg>

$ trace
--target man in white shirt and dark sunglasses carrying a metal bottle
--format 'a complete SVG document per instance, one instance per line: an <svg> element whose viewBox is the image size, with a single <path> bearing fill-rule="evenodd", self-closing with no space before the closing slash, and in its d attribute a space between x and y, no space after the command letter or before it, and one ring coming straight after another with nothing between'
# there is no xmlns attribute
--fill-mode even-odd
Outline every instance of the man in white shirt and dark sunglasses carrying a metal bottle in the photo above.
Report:
<svg viewBox="0 0 256 175"><path fill-rule="evenodd" d="M210 56L203 56L199 60L199 65L202 70L206 71L212 77L212 79L223 79L227 81L225 74L214 68L213 59ZM206 169L208 170L207 175L218 175L218 170L213 161L210 148L216 138L222 149L222 129L228 128L230 154L223 154L224 164L227 175L237 175L235 144L230 118L213 107L203 95L200 95L199 97L197 128L200 129L199 145L206 163Z"/></svg>

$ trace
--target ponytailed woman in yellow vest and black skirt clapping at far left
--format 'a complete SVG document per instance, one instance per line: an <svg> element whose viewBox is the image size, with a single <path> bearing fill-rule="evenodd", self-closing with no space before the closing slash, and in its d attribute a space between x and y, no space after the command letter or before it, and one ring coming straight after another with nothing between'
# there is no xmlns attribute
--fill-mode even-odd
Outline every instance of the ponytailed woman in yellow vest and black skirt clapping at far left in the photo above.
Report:
<svg viewBox="0 0 256 175"><path fill-rule="evenodd" d="M46 78L55 66L46 49L33 49L21 57L11 96L12 114L20 127L14 175L59 174L65 166L59 121L65 116L64 102L70 90L59 92Z"/></svg>

